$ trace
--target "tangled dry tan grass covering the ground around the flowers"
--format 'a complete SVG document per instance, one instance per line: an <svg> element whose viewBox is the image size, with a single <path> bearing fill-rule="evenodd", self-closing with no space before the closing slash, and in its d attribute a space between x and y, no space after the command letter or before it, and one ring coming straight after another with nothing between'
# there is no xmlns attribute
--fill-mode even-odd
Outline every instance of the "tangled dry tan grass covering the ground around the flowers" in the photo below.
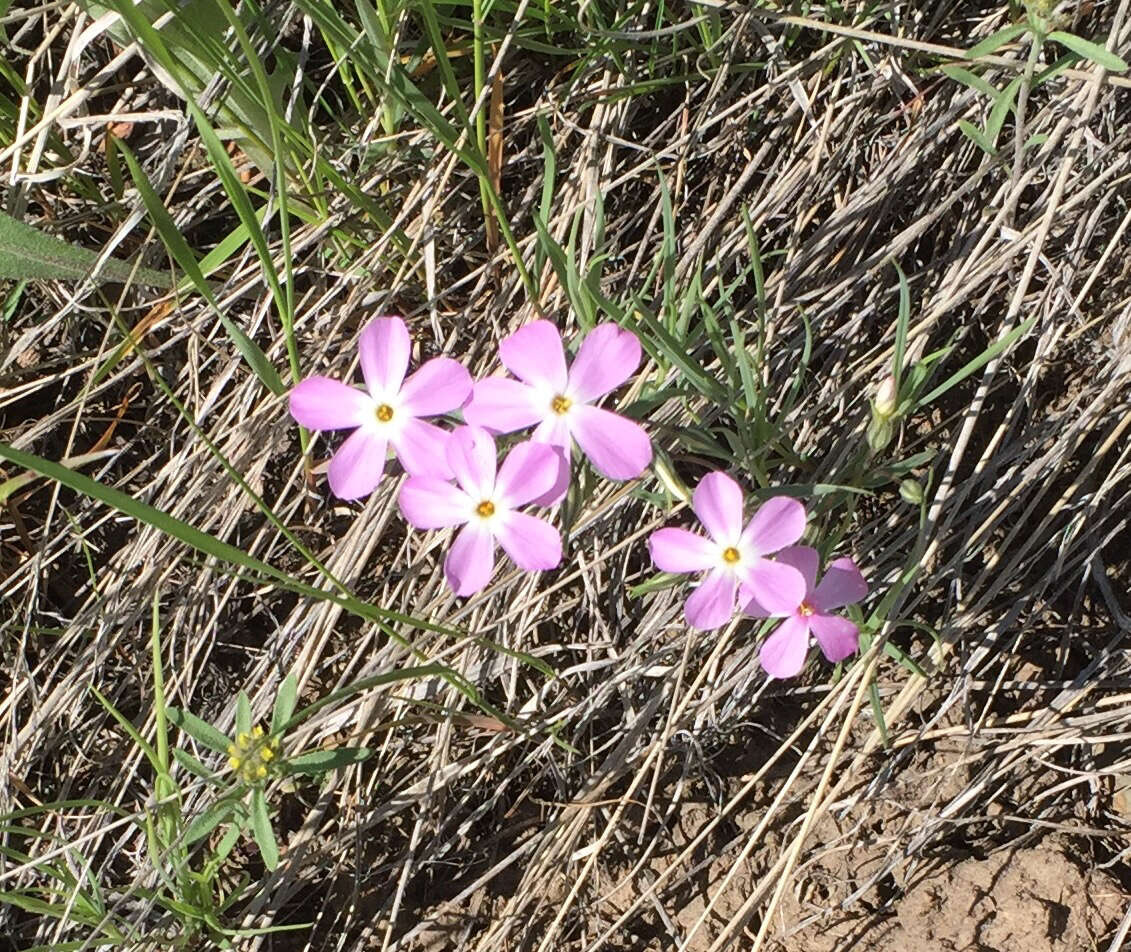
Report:
<svg viewBox="0 0 1131 952"><path fill-rule="evenodd" d="M556 163L549 230L563 244L575 233L582 272L599 259L610 298L637 294L658 306L673 280L716 300L748 265L749 219L766 269L765 380L782 395L774 425L791 449L778 483L844 479L867 397L891 362L893 261L910 292L909 361L952 346L949 374L1030 322L1016 346L917 408L884 451L884 465L933 455L909 474L932 477L922 520L895 479L856 502L845 496L841 545L877 598L908 566L918 571L873 647L834 683L814 667L797 683L768 683L749 623L688 631L676 590L629 598L651 571L641 542L667 518L633 487L598 485L579 500L559 572L503 574L483 597L457 602L442 583L443 540L406 534L391 491L346 507L308 479L284 400L267 393L202 302L92 285L25 292L5 328L6 442L52 459L93 452L84 466L98 481L321 585L210 443L360 597L466 632L399 633L529 727L508 730L440 681L369 692L305 725L297 745L349 737L377 753L320 787L278 791L284 862L267 875L253 849L242 854L264 882L235 910L238 924L312 926L241 947L907 947L922 935L891 938L890 928L917 884L972 858L1037 847L1083 871L1085 894L1108 890L1094 903L1062 901L1078 918L1094 905L1103 915L1088 914L1088 941L1121 947L1131 924L1125 84L1078 64L1031 92L1024 138L1007 133L991 157L957 128L984 115L985 97L934 67L947 55L939 47L969 46L1008 11L849 6L851 16L792 18L692 6L657 36L642 19L622 25L620 59L551 69L546 57L503 44L491 73L503 77L502 193L528 263L537 233L527 213L544 183L539 121ZM1111 49L1126 50L1126 8L1064 12L1080 35L1110 35ZM333 81L309 23L304 34L292 8L275 16L278 29L259 40L297 35L311 47L311 76ZM708 16L723 28L709 60L649 52ZM100 137L107 123L129 122L193 246L225 233L232 219L192 124L136 50L121 49L113 70L103 69L106 42L62 55L90 25L76 7L14 9L7 23L26 96L52 90L45 118L0 154L15 182L9 208L107 253L137 248L162 267L136 193L110 215L64 188L67 175L104 181ZM672 79L648 85L657 61ZM1003 50L982 75L1001 87L1022 68L1024 51ZM74 147L72 168L48 174L37 129ZM357 330L380 312L404 313L425 353L466 356L476 372L492 369L501 335L538 313L573 327L549 265L533 301L507 248L489 249L475 179L458 158L424 130L362 155L379 136L362 119L353 132L353 153L323 147L396 209L396 228L359 224L356 244L342 246L334 230L355 210L335 196L323 220L296 227L305 372L348 374ZM1047 138L1018 153L1031 136ZM273 253L283 253L278 243ZM221 303L285 365L250 252L223 275ZM732 304L740 322L753 322L751 284ZM96 380L121 341L111 312L138 328L149 369L130 352ZM699 340L690 356L714 373ZM677 372L666 373L646 370L630 397L677 384ZM728 409L664 392L650 417L657 444L692 482L709 462L697 447L722 445ZM325 458L326 443L312 451ZM152 733L153 592L171 700L222 729L240 689L266 716L291 669L313 699L413 656L340 606L233 577L52 484L11 495L2 531L0 813L84 798L119 807L44 808L21 822L58 837L57 850L103 884L115 915L159 936L145 899L156 873L130 820L145 810L148 768L89 692L97 686ZM189 789L191 813L204 788ZM0 857L0 889L40 877L36 865ZM1048 947L1077 947L1067 928L1050 933ZM0 933L12 949L83 938L10 906ZM905 944L883 944L897 940Z"/></svg>

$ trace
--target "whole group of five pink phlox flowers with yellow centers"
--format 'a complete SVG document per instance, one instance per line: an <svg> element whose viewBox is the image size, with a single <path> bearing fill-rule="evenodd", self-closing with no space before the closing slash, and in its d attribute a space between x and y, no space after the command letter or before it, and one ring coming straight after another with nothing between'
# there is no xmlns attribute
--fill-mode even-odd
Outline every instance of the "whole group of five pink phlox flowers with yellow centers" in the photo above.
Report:
<svg viewBox="0 0 1131 952"><path fill-rule="evenodd" d="M364 389L309 377L291 391L291 415L310 430L352 431L327 470L340 499L372 493L390 452L397 457L407 476L398 496L405 520L422 530L458 528L443 565L457 596L486 587L497 547L523 571L561 564L558 529L528 510L566 496L575 444L610 479L634 479L651 464L644 427L598 406L640 365L640 341L616 324L593 328L569 362L558 329L534 321L499 345L511 375L477 382L449 357L408 374L412 338L400 318L366 324L359 350ZM454 427L442 425L446 418ZM523 430L533 432L499 465L495 438ZM684 605L691 628L720 628L740 608L780 618L760 655L774 677L801 672L811 634L830 661L856 650L855 624L832 613L861 600L867 586L844 557L817 582L817 549L797 545L806 519L800 501L771 496L745 520L740 485L708 473L691 507L705 534L666 527L648 539L658 569L700 577Z"/></svg>

